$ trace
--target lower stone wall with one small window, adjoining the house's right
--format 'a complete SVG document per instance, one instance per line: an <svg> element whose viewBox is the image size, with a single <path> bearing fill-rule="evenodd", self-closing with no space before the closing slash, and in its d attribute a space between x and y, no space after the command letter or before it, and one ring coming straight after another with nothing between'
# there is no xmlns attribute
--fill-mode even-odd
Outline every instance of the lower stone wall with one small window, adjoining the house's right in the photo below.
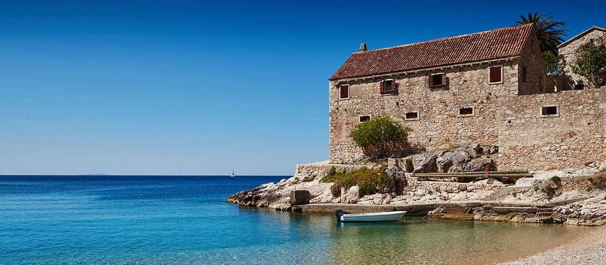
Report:
<svg viewBox="0 0 606 265"><path fill-rule="evenodd" d="M499 169L548 170L606 159L606 87L502 99ZM541 117L541 106L558 114Z"/></svg>

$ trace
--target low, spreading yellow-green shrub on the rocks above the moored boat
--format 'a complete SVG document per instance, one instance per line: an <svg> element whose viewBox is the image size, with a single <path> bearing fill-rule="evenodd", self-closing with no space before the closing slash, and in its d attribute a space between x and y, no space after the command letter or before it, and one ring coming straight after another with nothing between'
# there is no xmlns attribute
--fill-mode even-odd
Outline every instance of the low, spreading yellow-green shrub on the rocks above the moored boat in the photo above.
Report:
<svg viewBox="0 0 606 265"><path fill-rule="evenodd" d="M335 172L335 174L323 177L321 182L334 182L345 190L358 185L360 195L369 195L385 190L389 176L385 173L385 168L379 170L368 169L366 167L352 172Z"/></svg>

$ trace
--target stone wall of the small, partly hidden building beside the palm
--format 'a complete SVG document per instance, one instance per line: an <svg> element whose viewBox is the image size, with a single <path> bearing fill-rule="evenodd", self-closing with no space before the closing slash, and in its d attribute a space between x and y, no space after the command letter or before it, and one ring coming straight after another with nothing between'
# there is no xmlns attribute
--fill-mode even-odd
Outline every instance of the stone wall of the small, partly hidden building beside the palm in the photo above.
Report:
<svg viewBox="0 0 606 265"><path fill-rule="evenodd" d="M606 41L606 31L599 30L599 29L591 30L590 32L579 37L578 39L575 39L574 41L571 41L568 44L558 48L559 54L564 55L564 59L566 60L566 63L567 63L566 67L564 68L564 72L565 72L564 80L565 80L565 85L566 85L567 89L569 89L569 90L573 89L574 85L579 82L584 83L586 88L590 88L589 83L587 82L587 79L585 79L582 76L579 76L578 74L572 73L572 66L574 65L574 63L577 60L576 51L579 48L581 48L582 45L590 42L591 39L593 39L594 41L597 41L597 40Z"/></svg>

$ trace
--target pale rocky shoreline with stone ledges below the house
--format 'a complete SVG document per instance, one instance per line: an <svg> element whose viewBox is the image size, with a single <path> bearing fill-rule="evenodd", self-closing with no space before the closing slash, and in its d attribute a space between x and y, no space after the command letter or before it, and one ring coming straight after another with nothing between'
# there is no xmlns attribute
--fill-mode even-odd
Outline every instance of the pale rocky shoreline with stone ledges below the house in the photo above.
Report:
<svg viewBox="0 0 606 265"><path fill-rule="evenodd" d="M532 172L532 177L519 178L510 184L490 177L470 182L419 177L419 173L427 172L456 174L494 169L498 163L496 150L494 146L470 145L389 159L387 165L327 162L298 165L293 177L238 192L227 201L284 211L328 211L338 205L352 212L398 209L418 215L467 214L473 215L473 220L486 221L588 226L606 223L606 166L603 163ZM358 186L335 191L339 188L335 183L322 182L329 171L381 166L389 176L383 193L360 195ZM305 191L299 192L305 197L295 198L293 191Z"/></svg>

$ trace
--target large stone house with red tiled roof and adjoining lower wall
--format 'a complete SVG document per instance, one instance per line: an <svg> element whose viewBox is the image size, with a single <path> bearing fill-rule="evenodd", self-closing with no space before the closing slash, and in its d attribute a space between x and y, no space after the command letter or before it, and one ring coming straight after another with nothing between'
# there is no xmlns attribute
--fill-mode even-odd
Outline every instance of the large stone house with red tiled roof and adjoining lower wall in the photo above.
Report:
<svg viewBox="0 0 606 265"><path fill-rule="evenodd" d="M498 145L499 169L605 158L604 89L547 93L530 24L378 50L362 44L329 80L332 163L363 154L348 134L376 116L413 129L409 148Z"/></svg>

